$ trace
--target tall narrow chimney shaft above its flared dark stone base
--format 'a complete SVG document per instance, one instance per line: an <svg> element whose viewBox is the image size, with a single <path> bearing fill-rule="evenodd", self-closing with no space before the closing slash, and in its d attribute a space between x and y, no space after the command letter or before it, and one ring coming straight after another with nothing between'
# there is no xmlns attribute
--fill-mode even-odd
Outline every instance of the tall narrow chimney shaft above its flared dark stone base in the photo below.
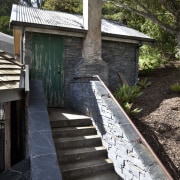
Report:
<svg viewBox="0 0 180 180"><path fill-rule="evenodd" d="M83 0L84 28L88 30L83 47L83 58L101 60L101 0Z"/></svg>

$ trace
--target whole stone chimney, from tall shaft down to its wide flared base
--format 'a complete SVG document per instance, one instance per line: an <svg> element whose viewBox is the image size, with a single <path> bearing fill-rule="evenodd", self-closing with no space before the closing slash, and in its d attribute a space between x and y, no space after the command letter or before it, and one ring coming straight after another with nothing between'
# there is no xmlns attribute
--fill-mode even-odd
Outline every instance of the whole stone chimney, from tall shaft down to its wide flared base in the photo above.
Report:
<svg viewBox="0 0 180 180"><path fill-rule="evenodd" d="M102 0L83 0L83 21L87 31L82 57L76 67L77 76L99 75L108 83L108 67L101 57L101 10Z"/></svg>

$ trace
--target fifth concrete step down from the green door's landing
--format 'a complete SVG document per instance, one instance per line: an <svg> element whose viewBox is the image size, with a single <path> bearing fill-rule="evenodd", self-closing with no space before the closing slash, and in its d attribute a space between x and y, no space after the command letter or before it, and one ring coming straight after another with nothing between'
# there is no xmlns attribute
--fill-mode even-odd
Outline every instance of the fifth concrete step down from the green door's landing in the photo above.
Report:
<svg viewBox="0 0 180 180"><path fill-rule="evenodd" d="M114 171L113 163L109 159L97 159L80 161L61 165L63 180L72 180L88 177L106 171Z"/></svg>

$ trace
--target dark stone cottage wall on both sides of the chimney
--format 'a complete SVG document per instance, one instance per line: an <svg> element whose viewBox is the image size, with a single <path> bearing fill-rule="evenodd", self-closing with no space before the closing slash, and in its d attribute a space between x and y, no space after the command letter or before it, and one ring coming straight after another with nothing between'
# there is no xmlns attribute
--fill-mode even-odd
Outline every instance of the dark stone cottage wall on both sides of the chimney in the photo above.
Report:
<svg viewBox="0 0 180 180"><path fill-rule="evenodd" d="M82 47L83 38L66 37L64 53L64 77L65 77L65 104L69 105L69 83L77 76L76 67L83 62ZM115 91L121 82L119 73L122 73L129 85L137 82L138 76L138 58L139 47L134 44L103 41L102 59L108 65L109 81L108 87ZM98 65L94 66L94 75L101 71ZM86 74L88 76L88 74Z"/></svg>

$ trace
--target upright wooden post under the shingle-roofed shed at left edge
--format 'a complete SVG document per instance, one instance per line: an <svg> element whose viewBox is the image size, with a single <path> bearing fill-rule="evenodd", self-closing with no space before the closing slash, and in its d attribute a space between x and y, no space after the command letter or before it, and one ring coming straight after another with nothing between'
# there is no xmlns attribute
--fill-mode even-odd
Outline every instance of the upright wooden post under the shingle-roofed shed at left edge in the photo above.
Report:
<svg viewBox="0 0 180 180"><path fill-rule="evenodd" d="M11 102L4 103L5 113L5 170L11 167Z"/></svg>

